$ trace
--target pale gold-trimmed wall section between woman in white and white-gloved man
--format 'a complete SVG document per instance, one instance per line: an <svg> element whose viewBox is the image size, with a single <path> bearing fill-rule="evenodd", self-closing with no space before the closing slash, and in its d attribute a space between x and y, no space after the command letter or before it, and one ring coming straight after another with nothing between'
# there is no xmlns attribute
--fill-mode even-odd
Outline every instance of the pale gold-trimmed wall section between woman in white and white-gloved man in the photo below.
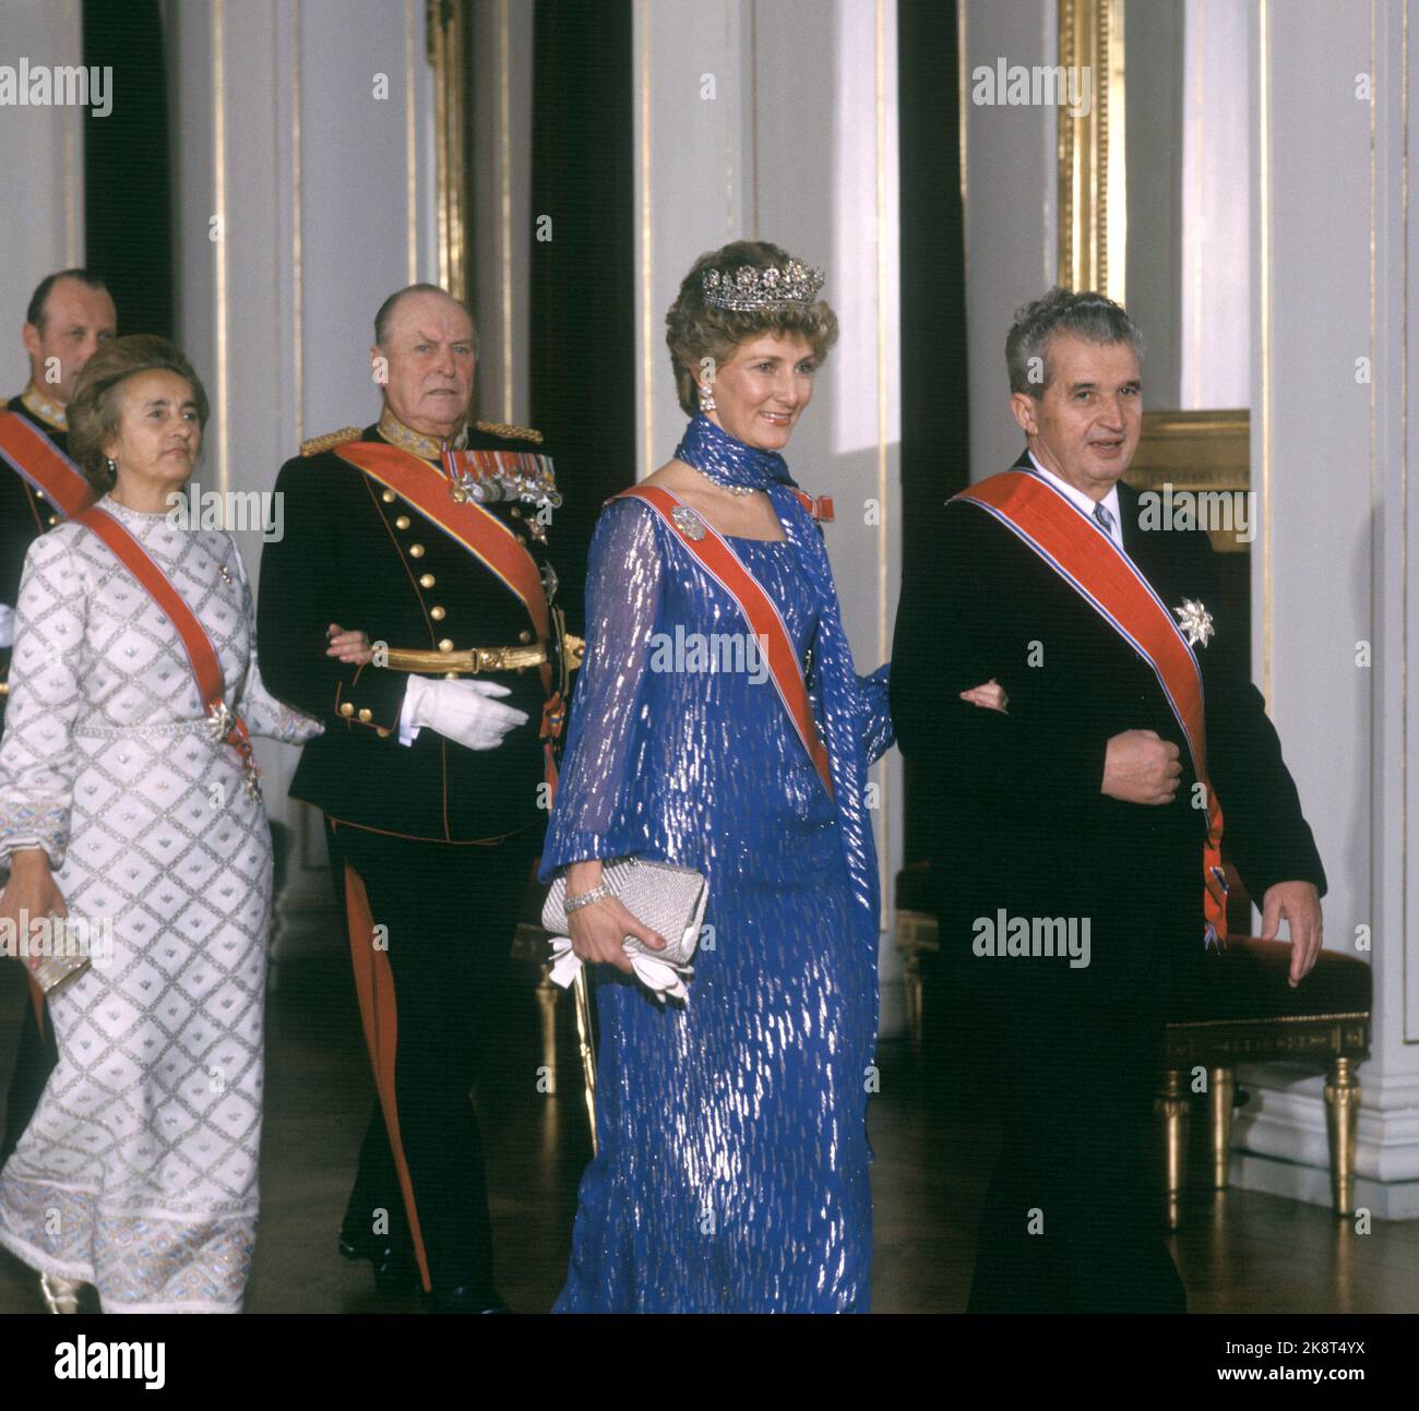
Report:
<svg viewBox="0 0 1419 1411"><path fill-rule="evenodd" d="M304 437L375 420L375 311L433 278L424 6L210 0L166 16L179 342L213 408L197 479L270 491ZM261 535L238 540L257 583ZM299 932L329 908L319 815L287 797L297 752L258 754L268 811L295 837L280 909Z"/></svg>

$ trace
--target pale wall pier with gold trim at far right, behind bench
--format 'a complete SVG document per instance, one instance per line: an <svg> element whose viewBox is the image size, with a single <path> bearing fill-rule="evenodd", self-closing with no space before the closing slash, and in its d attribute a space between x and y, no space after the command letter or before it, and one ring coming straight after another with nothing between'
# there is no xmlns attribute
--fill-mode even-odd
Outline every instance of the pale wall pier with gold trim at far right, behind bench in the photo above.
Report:
<svg viewBox="0 0 1419 1411"><path fill-rule="evenodd" d="M1253 661L1325 862L1327 947L1374 966L1357 1201L1416 1217L1419 719L1405 679L1419 533L1405 481L1419 451L1406 414L1419 349L1406 345L1402 72L1415 6L1335 0L1293 18L1264 0L1253 44ZM1321 1081L1301 1072L1244 1075L1253 1102L1237 1137L1250 1154L1235 1170L1324 1204Z"/></svg>

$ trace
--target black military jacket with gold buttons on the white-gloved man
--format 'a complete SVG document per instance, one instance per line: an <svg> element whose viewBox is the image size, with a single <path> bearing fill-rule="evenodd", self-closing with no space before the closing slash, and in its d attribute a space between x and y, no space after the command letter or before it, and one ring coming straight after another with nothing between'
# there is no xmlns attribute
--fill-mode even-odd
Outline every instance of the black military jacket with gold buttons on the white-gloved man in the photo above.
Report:
<svg viewBox="0 0 1419 1411"><path fill-rule="evenodd" d="M325 722L325 733L304 749L291 794L338 822L434 842L541 827L548 808L545 692L536 668L477 678L507 686L499 701L528 716L497 749L470 750L427 727L406 746L399 718L407 674L325 654L332 623L403 651L536 641L526 607L502 580L413 503L336 454L355 440L396 441L375 425L307 442L281 468L284 533L261 556L263 679L278 699ZM468 450L541 454L539 441L525 428L480 424L470 428ZM555 603L548 528L535 522L535 506L504 501L484 508L517 535ZM555 686L561 661L552 617Z"/></svg>

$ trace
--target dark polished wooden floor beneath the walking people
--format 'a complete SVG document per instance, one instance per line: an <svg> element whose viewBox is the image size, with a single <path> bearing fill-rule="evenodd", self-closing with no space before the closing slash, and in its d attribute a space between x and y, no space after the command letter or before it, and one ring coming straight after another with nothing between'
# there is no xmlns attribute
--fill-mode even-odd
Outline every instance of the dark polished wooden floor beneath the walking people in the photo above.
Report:
<svg viewBox="0 0 1419 1411"><path fill-rule="evenodd" d="M24 998L17 964L0 964L0 1100ZM536 1001L515 1017L507 1061L480 1089L485 1112L498 1285L518 1312L551 1307L562 1283L589 1156L585 1106L561 1007L555 1096L538 1092ZM881 1054L870 1133L876 1150L873 1307L954 1313L971 1282L976 1205L995 1132L952 1085L900 1045ZM292 963L271 995L261 1229L247 1307L263 1313L417 1312L376 1299L368 1265L335 1252L335 1231L370 1105L348 966L338 952ZM1198 1123L1200 1126L1200 1123ZM1250 1191L1198 1193L1174 1255L1198 1313L1419 1310L1419 1221L1376 1222L1368 1235L1325 1210ZM38 1310L34 1276L0 1252L0 1312Z"/></svg>

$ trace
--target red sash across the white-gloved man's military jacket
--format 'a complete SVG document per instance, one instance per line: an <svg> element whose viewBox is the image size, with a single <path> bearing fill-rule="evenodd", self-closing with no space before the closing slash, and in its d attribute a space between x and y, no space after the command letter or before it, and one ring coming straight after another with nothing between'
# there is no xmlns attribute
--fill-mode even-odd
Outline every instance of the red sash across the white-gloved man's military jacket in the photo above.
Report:
<svg viewBox="0 0 1419 1411"><path fill-rule="evenodd" d="M475 474L488 474L492 467L480 462L480 457L508 457L517 461L519 459L517 452L446 451L444 459L448 471L446 479L427 461L420 461L417 455L385 441L346 441L343 445L332 447L332 450L342 461L348 461L379 481L380 485L394 491L396 495L402 495L420 515L431 519L450 539L467 549L522 603L532 627L536 630L536 640L539 642L548 640L552 630L552 614L546 601L546 589L542 586L542 573L532 554L518 543L517 536L497 515L490 515L473 499L454 501L448 493L454 464L470 465ZM460 461L454 462L454 457L458 457ZM545 742L545 773L546 783L555 793L556 757L552 753L552 740L562 733L566 712L562 709L561 692L552 689L551 664L542 662L538 667L538 674L542 678L542 692L546 698L542 702L541 729Z"/></svg>

